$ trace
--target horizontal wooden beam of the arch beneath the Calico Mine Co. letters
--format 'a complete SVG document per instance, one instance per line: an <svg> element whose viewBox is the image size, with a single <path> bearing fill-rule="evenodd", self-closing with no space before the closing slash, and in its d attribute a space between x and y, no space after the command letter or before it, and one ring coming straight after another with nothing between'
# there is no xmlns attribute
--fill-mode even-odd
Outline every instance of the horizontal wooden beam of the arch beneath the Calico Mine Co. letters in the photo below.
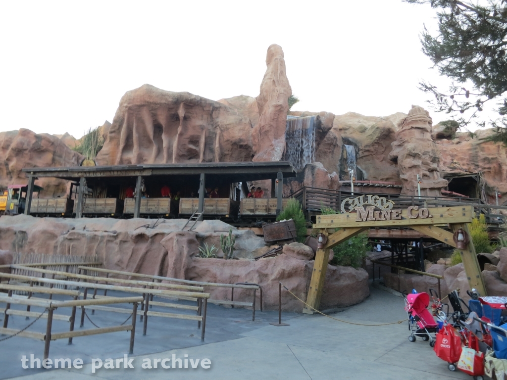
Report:
<svg viewBox="0 0 507 380"><path fill-rule="evenodd" d="M402 209L401 219L395 220L367 220L356 221L356 213L317 215L315 229L339 228L339 227L375 227L375 226L412 226L427 224L446 224L446 223L471 223L475 216L472 206L458 207L431 207L428 208L431 217L411 219L407 216L407 209Z"/></svg>

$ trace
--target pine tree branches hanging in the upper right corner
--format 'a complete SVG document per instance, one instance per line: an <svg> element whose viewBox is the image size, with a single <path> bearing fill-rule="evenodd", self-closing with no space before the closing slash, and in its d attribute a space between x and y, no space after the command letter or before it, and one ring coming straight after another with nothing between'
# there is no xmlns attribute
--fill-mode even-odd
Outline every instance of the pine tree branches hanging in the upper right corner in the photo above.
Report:
<svg viewBox="0 0 507 380"><path fill-rule="evenodd" d="M507 1L403 1L429 4L437 10L439 31L431 35L424 28L422 51L452 85L449 91L441 91L430 83L420 83L421 90L435 97L430 102L434 109L451 115L447 123L454 121L466 128L475 121L484 127L486 121L479 112L485 103L496 102L498 118L488 122L496 133L490 140L507 143Z"/></svg>

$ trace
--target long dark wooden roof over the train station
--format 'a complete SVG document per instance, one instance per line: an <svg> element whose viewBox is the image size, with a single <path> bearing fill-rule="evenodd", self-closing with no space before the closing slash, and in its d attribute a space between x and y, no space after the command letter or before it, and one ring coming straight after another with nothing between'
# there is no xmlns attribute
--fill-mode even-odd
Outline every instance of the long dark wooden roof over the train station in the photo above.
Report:
<svg viewBox="0 0 507 380"><path fill-rule="evenodd" d="M195 177L201 173L206 177L228 182L256 181L275 179L278 172L283 177L294 177L297 170L288 161L280 162L206 162L184 164L151 165L114 165L114 166L77 166L55 168L24 168L26 176L30 174L42 178L53 177L66 180L85 178L119 178L141 175Z"/></svg>

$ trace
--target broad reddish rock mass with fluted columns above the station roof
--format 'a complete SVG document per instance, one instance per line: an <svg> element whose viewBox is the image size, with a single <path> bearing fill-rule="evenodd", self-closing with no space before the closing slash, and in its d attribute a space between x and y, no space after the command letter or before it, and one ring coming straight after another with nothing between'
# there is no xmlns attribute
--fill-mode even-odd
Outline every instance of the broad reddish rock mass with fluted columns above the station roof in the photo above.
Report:
<svg viewBox="0 0 507 380"><path fill-rule="evenodd" d="M99 165L250 161L251 121L222 103L143 85L120 100Z"/></svg>

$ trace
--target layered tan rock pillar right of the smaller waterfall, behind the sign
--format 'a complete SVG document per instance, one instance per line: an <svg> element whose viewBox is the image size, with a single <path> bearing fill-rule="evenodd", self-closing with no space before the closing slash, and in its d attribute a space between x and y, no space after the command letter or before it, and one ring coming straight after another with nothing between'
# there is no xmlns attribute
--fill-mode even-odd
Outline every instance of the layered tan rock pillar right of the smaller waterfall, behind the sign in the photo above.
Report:
<svg viewBox="0 0 507 380"><path fill-rule="evenodd" d="M447 186L447 180L440 177L440 149L431 138L431 125L429 112L413 105L396 132L388 157L400 170L402 195L417 195L418 174L421 196L440 197L442 188Z"/></svg>

